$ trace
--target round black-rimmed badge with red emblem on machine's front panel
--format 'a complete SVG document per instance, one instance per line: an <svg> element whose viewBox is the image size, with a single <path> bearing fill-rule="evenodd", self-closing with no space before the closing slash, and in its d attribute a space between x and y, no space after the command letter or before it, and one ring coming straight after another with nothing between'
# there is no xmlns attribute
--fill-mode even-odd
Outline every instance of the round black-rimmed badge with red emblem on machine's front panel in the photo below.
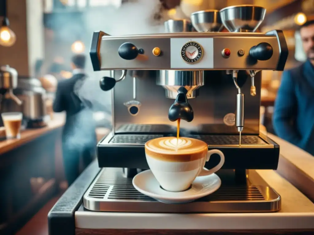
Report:
<svg viewBox="0 0 314 235"><path fill-rule="evenodd" d="M181 57L182 59L189 63L193 64L198 62L202 58L203 49L200 44L194 41L189 41L185 43L181 48Z"/></svg>

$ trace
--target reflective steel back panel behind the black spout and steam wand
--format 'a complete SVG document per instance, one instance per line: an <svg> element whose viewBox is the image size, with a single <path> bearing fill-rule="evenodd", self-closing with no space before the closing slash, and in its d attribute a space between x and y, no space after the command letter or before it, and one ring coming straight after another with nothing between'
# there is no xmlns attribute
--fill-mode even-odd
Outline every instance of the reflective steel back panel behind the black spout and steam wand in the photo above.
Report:
<svg viewBox="0 0 314 235"><path fill-rule="evenodd" d="M116 79L121 71L115 72ZM133 100L133 77L127 75L126 79L116 84L113 89L113 123L115 130L123 124L141 125L170 125L176 128L176 123L169 121L168 111L173 99L165 97L162 86L156 85L156 71L147 71L140 78L136 78L136 101L141 103L137 115L132 116L125 102ZM238 83L245 95L243 134L259 134L259 107L261 90L261 73L255 76L256 96L250 95L250 77L245 71L238 73ZM198 97L189 99L194 111L194 119L187 123L181 121L183 131L197 131L198 133L228 133L238 134L235 126L236 94L231 75L225 71L204 71L204 86L197 92ZM231 120L231 121L230 121ZM154 132L154 131L151 131Z"/></svg>

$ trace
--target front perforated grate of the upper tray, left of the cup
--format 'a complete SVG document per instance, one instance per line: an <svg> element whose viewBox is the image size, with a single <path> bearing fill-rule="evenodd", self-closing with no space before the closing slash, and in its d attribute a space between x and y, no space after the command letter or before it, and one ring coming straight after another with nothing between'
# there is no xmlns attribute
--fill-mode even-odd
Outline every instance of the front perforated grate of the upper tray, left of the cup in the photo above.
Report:
<svg viewBox="0 0 314 235"><path fill-rule="evenodd" d="M129 134L120 134L114 135L114 137L109 141L112 144L145 144L147 141L163 137L163 135L129 135Z"/></svg>

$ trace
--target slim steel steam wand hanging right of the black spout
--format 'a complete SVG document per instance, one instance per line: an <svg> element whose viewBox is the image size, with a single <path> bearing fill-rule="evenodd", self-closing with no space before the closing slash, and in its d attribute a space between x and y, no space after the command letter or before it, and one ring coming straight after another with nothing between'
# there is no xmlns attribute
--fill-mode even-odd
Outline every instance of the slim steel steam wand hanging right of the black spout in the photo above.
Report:
<svg viewBox="0 0 314 235"><path fill-rule="evenodd" d="M238 89L238 94L236 95L236 127L238 132L241 133L244 127L244 94L242 94L241 88L237 82L238 71L239 70L232 71L232 79Z"/></svg>

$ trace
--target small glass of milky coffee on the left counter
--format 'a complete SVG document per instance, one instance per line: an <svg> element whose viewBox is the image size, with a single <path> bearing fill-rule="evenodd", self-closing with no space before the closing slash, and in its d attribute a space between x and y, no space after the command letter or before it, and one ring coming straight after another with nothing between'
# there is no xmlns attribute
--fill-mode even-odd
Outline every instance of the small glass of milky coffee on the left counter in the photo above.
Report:
<svg viewBox="0 0 314 235"><path fill-rule="evenodd" d="M1 113L7 139L19 139L23 114L21 112Z"/></svg>

